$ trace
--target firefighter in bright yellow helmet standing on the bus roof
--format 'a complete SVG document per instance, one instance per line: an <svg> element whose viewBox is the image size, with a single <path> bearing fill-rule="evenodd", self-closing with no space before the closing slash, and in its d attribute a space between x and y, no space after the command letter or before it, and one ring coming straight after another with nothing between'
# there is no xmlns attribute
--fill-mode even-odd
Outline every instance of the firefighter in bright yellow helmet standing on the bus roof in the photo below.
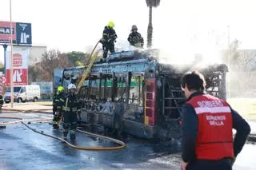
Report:
<svg viewBox="0 0 256 170"><path fill-rule="evenodd" d="M107 53L110 50L110 53L114 53L114 42L118 38L118 35L115 33L114 22L109 22L105 29L103 30L102 39L100 42L102 43L103 48L103 57L107 57Z"/></svg>

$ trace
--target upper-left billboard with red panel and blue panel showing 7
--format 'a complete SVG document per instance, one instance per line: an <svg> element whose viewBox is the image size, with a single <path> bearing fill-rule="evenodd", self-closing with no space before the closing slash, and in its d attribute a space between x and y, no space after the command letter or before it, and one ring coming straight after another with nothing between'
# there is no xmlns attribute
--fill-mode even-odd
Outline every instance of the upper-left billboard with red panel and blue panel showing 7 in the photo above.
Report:
<svg viewBox="0 0 256 170"><path fill-rule="evenodd" d="M23 22L0 22L0 44L10 44L10 33L13 34L13 43L17 45L31 45L31 24Z"/></svg>

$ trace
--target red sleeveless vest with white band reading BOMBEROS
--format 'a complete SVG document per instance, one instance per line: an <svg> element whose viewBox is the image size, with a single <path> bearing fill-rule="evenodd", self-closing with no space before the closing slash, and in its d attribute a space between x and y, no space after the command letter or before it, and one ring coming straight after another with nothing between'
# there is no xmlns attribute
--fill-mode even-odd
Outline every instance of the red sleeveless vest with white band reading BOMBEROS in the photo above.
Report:
<svg viewBox="0 0 256 170"><path fill-rule="evenodd" d="M193 97L187 102L198 116L195 155L201 160L234 157L232 115L225 101L210 95Z"/></svg>

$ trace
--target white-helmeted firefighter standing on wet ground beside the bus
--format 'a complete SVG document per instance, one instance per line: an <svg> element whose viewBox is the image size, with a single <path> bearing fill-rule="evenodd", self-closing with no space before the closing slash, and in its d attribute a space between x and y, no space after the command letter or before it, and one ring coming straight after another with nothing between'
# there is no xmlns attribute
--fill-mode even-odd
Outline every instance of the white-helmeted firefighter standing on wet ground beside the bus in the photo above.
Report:
<svg viewBox="0 0 256 170"><path fill-rule="evenodd" d="M74 84L70 84L67 88L69 93L60 99L63 110L63 137L64 139L67 138L67 134L70 128L70 140L74 140L78 121L77 113L81 113L81 106L78 102L78 97L74 93L76 86Z"/></svg>

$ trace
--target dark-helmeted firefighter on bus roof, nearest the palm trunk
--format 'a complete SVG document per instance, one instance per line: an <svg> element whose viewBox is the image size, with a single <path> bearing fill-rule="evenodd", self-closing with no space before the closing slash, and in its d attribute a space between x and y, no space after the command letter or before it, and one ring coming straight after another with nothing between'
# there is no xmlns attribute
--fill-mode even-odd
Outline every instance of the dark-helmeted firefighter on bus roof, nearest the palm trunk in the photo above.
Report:
<svg viewBox="0 0 256 170"><path fill-rule="evenodd" d="M131 33L129 34L127 40L128 42L130 42L130 45L138 48L143 48L144 39L142 38L142 35L138 33L137 26L134 25L131 27Z"/></svg>

